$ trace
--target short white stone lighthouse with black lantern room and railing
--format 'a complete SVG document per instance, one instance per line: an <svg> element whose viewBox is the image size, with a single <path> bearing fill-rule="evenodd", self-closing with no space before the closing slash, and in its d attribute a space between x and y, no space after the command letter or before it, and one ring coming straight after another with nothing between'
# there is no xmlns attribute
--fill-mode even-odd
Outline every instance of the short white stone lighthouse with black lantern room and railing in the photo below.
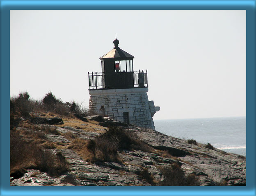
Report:
<svg viewBox="0 0 256 196"><path fill-rule="evenodd" d="M119 48L119 40L113 43L100 58L102 72L88 72L89 112L155 129L152 117L160 107L148 100L147 70L134 71L134 56Z"/></svg>

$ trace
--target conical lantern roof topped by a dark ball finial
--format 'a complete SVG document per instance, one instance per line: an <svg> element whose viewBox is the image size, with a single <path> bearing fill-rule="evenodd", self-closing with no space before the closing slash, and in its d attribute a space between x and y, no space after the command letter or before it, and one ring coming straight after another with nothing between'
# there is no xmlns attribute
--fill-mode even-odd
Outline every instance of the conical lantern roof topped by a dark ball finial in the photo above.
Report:
<svg viewBox="0 0 256 196"><path fill-rule="evenodd" d="M118 47L119 41L117 39L114 40L114 45L115 47L109 51L108 53L104 54L103 56L101 56L100 59L103 58L120 58L120 59L127 59L127 60L131 60L134 58L133 55L130 55L129 53L127 53L126 51L123 51L122 49L120 49Z"/></svg>

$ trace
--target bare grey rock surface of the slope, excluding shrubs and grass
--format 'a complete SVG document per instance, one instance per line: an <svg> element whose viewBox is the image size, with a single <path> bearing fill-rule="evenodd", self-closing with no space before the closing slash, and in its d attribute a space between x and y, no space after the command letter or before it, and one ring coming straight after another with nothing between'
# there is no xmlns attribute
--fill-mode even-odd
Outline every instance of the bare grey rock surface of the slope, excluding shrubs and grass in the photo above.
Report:
<svg viewBox="0 0 256 196"><path fill-rule="evenodd" d="M99 116L87 117L87 120L104 127L110 125L123 126L120 122L113 122ZM98 123L99 122L99 123ZM65 123L65 122L64 122ZM112 124L111 124L112 123ZM54 125L42 125L53 126ZM89 124L88 124L89 126ZM246 185L246 157L226 153L219 149L208 149L204 144L188 144L186 140L167 136L154 131L132 125L123 126L126 131L136 133L140 140L161 154L142 150L118 151L122 160L115 162L85 161L82 156L69 148L71 140L63 134L71 132L75 138L83 140L99 136L97 131L86 131L72 127L57 127L62 135L48 133L46 139L62 147L50 149L54 154L61 152L69 162L69 171L59 177L50 177L46 172L37 169L27 169L23 175L14 178L10 176L11 186L151 186L159 185L165 178L161 167L178 163L185 175L194 174L199 178L201 186L245 186ZM107 128L104 128L107 129ZM170 157L164 156L168 153ZM142 175L145 170L153 176L154 184Z"/></svg>

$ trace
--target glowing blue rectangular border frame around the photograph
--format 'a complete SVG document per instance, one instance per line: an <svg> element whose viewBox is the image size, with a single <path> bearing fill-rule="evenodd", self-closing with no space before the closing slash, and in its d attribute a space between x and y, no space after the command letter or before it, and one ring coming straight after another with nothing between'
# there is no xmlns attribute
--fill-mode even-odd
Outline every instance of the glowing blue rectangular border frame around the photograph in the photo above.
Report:
<svg viewBox="0 0 256 196"><path fill-rule="evenodd" d="M0 195L256 195L255 6L256 0L0 0ZM247 26L246 187L10 187L9 64L11 9L243 9Z"/></svg>

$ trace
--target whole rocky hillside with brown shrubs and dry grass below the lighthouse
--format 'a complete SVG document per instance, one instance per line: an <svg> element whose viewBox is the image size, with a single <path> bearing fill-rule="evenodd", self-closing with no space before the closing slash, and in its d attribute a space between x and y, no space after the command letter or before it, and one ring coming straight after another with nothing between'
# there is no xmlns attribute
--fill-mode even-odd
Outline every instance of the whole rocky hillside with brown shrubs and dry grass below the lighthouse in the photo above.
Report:
<svg viewBox="0 0 256 196"><path fill-rule="evenodd" d="M10 98L10 185L246 185L243 156L88 115L51 92Z"/></svg>

